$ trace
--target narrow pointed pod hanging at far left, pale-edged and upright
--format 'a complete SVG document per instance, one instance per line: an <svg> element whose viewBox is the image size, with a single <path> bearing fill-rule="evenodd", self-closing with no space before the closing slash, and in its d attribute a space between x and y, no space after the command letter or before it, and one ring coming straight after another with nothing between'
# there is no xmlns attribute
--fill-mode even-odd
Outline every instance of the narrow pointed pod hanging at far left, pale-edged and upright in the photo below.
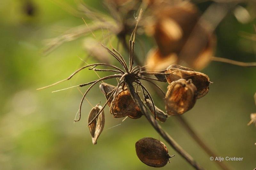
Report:
<svg viewBox="0 0 256 170"><path fill-rule="evenodd" d="M90 111L90 114L88 116L88 123L92 121L92 119L99 113L100 109L102 107L97 104L92 110ZM92 124L88 125L89 131L92 136L92 143L93 145L97 144L97 139L100 136L100 133L103 131L105 124L105 116L104 116L104 110L99 114L99 116L92 122Z"/></svg>

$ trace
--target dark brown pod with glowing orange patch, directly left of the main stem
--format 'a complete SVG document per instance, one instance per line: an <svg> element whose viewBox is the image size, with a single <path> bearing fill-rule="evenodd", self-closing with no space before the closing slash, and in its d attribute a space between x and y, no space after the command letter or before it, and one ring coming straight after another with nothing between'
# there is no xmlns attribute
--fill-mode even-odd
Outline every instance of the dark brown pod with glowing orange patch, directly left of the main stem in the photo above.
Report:
<svg viewBox="0 0 256 170"><path fill-rule="evenodd" d="M128 116L138 119L142 116L142 112L133 101L128 89L121 90L116 94L110 105L110 113L116 118Z"/></svg>

